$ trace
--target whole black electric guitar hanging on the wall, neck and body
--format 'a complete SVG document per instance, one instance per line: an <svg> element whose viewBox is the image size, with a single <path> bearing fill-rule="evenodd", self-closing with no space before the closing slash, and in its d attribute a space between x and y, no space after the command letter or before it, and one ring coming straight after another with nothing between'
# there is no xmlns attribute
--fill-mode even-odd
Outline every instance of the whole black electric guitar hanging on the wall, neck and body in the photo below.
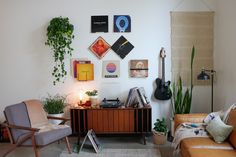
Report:
<svg viewBox="0 0 236 157"><path fill-rule="evenodd" d="M170 90L170 81L165 82L165 49L162 47L160 51L160 57L162 59L162 78L156 79L157 88L154 93L154 97L159 100L168 100L171 98L172 93Z"/></svg>

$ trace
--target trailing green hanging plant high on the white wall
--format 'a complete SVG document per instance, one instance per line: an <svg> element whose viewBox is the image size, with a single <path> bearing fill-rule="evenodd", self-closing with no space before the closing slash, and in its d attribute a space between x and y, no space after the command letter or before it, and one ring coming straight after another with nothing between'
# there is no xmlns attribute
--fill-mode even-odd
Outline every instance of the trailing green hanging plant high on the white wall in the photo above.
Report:
<svg viewBox="0 0 236 157"><path fill-rule="evenodd" d="M56 85L60 82L66 75L65 70L65 55L72 55L73 48L71 48L74 26L70 24L69 18L55 17L50 21L47 28L47 41L46 45L50 46L53 51L54 57L54 68L52 76L54 77L53 84Z"/></svg>

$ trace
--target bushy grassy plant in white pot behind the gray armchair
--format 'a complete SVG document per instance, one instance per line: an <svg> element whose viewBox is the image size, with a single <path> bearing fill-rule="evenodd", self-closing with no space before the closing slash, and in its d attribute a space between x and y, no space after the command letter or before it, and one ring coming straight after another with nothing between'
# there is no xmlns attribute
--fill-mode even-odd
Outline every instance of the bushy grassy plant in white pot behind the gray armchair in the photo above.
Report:
<svg viewBox="0 0 236 157"><path fill-rule="evenodd" d="M63 117L64 115L64 108L65 108L65 101L66 97L55 95L51 96L48 95L48 97L44 98L43 100L43 108L45 112L48 113L49 116L52 117ZM50 122L54 124L59 124L60 120L50 120Z"/></svg>

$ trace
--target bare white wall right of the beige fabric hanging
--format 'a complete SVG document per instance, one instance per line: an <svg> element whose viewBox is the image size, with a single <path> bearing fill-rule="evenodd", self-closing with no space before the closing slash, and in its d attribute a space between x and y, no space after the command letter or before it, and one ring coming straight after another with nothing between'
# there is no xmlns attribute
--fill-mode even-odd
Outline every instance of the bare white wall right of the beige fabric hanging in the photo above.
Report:
<svg viewBox="0 0 236 157"><path fill-rule="evenodd" d="M225 109L236 102L236 1L217 1L215 30L215 108Z"/></svg>

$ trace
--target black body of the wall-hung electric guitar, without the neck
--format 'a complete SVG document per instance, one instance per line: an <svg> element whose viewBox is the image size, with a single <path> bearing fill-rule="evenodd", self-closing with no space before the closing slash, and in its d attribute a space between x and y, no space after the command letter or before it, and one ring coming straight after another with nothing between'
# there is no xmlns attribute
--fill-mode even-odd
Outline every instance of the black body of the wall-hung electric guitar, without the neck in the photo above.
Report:
<svg viewBox="0 0 236 157"><path fill-rule="evenodd" d="M162 79L156 79L157 88L154 93L154 97L158 100L169 100L172 96L170 90L170 81L162 82Z"/></svg>

